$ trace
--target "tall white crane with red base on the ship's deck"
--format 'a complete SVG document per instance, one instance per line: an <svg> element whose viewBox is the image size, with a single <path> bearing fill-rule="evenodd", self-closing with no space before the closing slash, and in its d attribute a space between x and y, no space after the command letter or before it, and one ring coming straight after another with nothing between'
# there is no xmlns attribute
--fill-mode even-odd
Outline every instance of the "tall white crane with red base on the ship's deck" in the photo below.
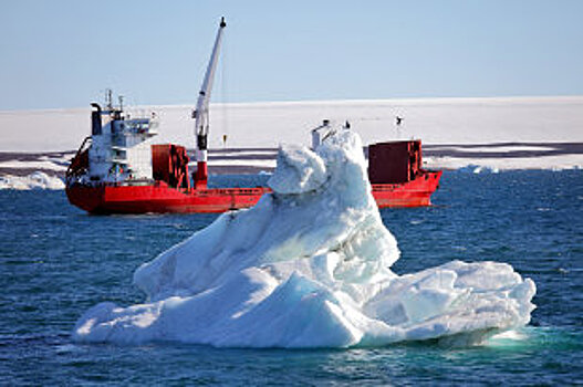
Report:
<svg viewBox="0 0 583 387"><path fill-rule="evenodd" d="M222 31L227 24L225 18L220 19L219 30L217 32L217 39L215 40L215 46L210 55L205 80L202 86L198 93L197 106L194 112L195 121L195 135L196 135L196 158L197 158L197 171L195 175L195 187L206 188L208 180L207 171L207 143L208 143L208 127L209 127L209 102L210 92L212 91L212 81L215 80L215 71L217 70L217 63L219 61L220 43L222 40Z"/></svg>

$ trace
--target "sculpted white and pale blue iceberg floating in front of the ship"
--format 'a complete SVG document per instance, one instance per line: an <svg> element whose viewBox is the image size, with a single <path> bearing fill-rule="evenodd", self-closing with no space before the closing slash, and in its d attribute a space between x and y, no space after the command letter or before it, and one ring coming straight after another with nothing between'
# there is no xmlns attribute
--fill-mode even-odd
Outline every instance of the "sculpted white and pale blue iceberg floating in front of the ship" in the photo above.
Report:
<svg viewBox="0 0 583 387"><path fill-rule="evenodd" d="M525 325L534 283L509 264L454 261L398 276L360 137L282 147L273 194L143 264L143 304L101 303L79 342L353 347L438 338L473 345ZM423 260L423 257L418 259Z"/></svg>

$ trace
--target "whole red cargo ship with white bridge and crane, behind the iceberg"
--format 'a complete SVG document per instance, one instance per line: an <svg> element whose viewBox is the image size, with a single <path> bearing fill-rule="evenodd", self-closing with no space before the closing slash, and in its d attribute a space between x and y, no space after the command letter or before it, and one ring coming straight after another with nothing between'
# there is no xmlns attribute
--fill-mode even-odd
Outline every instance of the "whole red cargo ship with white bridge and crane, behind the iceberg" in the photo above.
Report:
<svg viewBox="0 0 583 387"><path fill-rule="evenodd" d="M69 201L90 213L225 212L251 207L268 187L209 188L207 138L209 101L220 50L221 19L199 92L195 118L196 170L190 175L186 147L153 144L157 117L129 116L111 92L104 108L92 103L91 136L73 157L65 175ZM325 136L329 123L312 130ZM419 140L368 147L368 175L378 207L429 206L441 171L423 169Z"/></svg>

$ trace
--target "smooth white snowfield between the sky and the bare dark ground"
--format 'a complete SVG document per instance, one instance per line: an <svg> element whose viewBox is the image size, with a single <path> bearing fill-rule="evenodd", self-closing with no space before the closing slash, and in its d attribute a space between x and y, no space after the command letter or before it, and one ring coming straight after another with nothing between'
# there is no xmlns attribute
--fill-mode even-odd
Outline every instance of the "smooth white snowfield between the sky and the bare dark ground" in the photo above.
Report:
<svg viewBox="0 0 583 387"><path fill-rule="evenodd" d="M140 106L160 122L159 142L191 147L192 106ZM395 116L404 117L397 130ZM583 96L311 101L211 104L210 148L309 145L322 119L350 121L365 145L418 137L425 144L582 143ZM0 151L76 149L90 134L90 108L0 112Z"/></svg>

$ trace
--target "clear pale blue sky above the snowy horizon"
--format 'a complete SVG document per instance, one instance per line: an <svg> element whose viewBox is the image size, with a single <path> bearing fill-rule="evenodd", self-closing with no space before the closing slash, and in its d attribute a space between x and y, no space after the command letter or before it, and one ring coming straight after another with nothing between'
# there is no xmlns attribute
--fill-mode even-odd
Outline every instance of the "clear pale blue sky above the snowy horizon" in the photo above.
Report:
<svg viewBox="0 0 583 387"><path fill-rule="evenodd" d="M583 1L0 0L0 109L583 95Z"/></svg>

